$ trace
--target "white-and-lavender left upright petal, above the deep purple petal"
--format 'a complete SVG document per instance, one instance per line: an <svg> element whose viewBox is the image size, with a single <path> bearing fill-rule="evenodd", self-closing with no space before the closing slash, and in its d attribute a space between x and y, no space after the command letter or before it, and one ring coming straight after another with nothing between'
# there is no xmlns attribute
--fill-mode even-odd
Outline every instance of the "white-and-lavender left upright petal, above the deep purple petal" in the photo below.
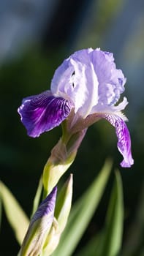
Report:
<svg viewBox="0 0 144 256"><path fill-rule="evenodd" d="M90 50L80 50L65 60L53 76L53 94L70 99L75 113L86 118L98 102L98 80Z"/></svg>

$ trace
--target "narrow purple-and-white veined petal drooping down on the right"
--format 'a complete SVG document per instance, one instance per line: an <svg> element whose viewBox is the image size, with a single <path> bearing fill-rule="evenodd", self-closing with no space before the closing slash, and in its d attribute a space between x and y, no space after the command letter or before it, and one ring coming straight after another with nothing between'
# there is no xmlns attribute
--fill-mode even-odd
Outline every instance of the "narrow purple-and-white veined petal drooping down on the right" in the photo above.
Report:
<svg viewBox="0 0 144 256"><path fill-rule="evenodd" d="M107 119L110 124L115 127L115 132L118 138L118 150L123 155L124 160L121 162L122 167L131 167L133 165L134 160L132 159L131 152L131 138L129 135L129 130L126 127L123 119L116 115L105 114L102 115L103 118Z"/></svg>

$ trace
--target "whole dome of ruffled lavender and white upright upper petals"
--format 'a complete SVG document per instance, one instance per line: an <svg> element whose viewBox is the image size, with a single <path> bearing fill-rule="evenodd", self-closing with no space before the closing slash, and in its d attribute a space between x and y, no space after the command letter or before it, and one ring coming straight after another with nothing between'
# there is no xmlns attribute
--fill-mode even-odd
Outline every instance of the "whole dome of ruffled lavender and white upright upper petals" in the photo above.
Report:
<svg viewBox="0 0 144 256"><path fill-rule="evenodd" d="M94 110L116 110L125 83L113 53L88 48L73 53L56 69L51 91L72 100L75 113L86 118Z"/></svg>

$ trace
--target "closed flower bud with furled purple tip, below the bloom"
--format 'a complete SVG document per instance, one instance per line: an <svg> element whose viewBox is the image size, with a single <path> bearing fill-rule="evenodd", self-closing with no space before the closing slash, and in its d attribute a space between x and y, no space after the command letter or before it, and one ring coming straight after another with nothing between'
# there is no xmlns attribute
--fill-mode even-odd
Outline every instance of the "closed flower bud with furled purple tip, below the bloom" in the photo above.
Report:
<svg viewBox="0 0 144 256"><path fill-rule="evenodd" d="M19 256L37 256L42 252L45 238L53 223L57 188L42 201L31 219L29 229L23 240Z"/></svg>

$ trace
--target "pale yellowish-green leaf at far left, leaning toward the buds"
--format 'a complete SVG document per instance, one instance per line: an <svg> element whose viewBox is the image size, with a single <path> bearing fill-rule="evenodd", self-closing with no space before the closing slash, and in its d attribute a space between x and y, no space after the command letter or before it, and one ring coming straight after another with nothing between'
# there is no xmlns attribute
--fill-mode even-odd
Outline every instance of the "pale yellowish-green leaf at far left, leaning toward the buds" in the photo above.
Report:
<svg viewBox="0 0 144 256"><path fill-rule="evenodd" d="M15 232L15 238L19 244L22 244L26 230L29 226L29 219L26 217L26 214L10 190L1 181L0 195L7 219Z"/></svg>

